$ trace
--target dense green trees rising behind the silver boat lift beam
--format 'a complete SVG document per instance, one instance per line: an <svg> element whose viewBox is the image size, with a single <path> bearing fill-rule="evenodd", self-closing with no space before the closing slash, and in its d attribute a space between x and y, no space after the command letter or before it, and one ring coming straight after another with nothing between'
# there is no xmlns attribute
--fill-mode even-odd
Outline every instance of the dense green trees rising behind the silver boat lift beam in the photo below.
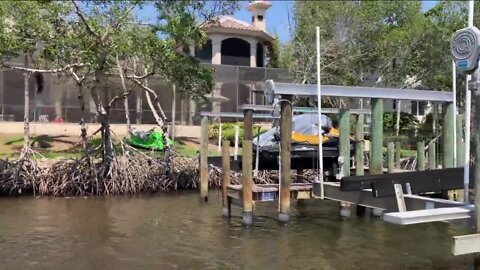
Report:
<svg viewBox="0 0 480 270"><path fill-rule="evenodd" d="M282 57L299 83L315 83L319 26L325 84L450 91L450 39L466 26L466 8L466 1L439 1L426 13L421 1L296 1L293 40ZM463 77L457 78L459 100Z"/></svg>

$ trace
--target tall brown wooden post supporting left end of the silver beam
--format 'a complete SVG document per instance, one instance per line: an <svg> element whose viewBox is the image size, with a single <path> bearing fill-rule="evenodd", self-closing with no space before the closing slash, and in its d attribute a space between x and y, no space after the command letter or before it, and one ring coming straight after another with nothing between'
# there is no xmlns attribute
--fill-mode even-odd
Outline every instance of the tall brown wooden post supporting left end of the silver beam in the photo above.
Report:
<svg viewBox="0 0 480 270"><path fill-rule="evenodd" d="M280 212L278 220L288 222L290 218L290 152L292 148L292 97L283 97L280 104Z"/></svg>

